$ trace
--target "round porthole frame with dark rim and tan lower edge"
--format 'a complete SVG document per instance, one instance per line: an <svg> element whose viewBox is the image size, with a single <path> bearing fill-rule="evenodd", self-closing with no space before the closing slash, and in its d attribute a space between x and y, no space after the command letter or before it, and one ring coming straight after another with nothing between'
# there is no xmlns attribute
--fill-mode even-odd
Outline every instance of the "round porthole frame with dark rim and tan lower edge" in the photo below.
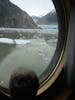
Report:
<svg viewBox="0 0 75 100"><path fill-rule="evenodd" d="M40 76L40 87L38 89L37 95L40 95L46 91L57 79L60 72L62 71L65 63L65 48L68 33L68 17L64 0L52 0L56 8L57 18L58 18L58 42L55 54L47 67L47 69ZM63 19L63 20L62 20ZM60 42L59 42L60 41ZM52 67L52 68L50 68ZM50 70L49 70L50 68ZM10 96L9 90L0 86L0 91Z"/></svg>

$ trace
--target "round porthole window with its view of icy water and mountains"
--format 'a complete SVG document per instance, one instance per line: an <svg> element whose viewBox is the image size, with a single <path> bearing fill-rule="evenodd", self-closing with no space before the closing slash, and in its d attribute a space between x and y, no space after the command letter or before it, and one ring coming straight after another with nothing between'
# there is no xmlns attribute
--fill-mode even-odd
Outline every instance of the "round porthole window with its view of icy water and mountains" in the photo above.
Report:
<svg viewBox="0 0 75 100"><path fill-rule="evenodd" d="M40 94L64 54L66 17L61 0L0 0L0 5L1 90L10 94L11 72L25 67L38 75Z"/></svg>

